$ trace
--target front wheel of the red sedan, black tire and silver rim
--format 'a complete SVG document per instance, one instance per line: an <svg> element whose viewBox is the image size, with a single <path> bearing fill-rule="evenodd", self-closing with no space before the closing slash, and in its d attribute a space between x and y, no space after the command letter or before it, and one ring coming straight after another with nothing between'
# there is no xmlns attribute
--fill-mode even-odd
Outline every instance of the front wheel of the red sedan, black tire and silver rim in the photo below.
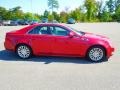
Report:
<svg viewBox="0 0 120 90"><path fill-rule="evenodd" d="M95 50L99 52L95 52ZM87 59L92 62L104 61L106 60L106 50L102 46L93 46L87 52Z"/></svg>

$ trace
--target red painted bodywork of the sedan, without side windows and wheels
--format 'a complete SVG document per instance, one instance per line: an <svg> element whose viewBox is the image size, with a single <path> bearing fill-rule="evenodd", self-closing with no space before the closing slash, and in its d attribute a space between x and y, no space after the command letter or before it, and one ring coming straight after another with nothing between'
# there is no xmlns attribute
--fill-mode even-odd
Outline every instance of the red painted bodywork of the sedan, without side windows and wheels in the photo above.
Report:
<svg viewBox="0 0 120 90"><path fill-rule="evenodd" d="M68 30L70 35L30 34L35 27L60 27ZM102 46L109 58L114 51L108 38L92 33L81 32L60 24L35 24L6 34L4 46L7 50L16 51L19 44L25 44L32 49L34 55L85 57L92 46Z"/></svg>

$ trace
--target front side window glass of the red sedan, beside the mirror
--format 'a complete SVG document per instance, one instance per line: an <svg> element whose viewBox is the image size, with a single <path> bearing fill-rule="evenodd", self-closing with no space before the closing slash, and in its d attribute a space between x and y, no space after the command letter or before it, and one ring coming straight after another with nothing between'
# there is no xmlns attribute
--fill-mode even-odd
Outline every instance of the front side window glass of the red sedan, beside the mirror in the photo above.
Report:
<svg viewBox="0 0 120 90"><path fill-rule="evenodd" d="M55 27L50 27L50 29L51 29L51 32L52 32L53 35L67 36L68 33L69 33L68 30L66 30L66 29L64 29L62 27L55 26Z"/></svg>

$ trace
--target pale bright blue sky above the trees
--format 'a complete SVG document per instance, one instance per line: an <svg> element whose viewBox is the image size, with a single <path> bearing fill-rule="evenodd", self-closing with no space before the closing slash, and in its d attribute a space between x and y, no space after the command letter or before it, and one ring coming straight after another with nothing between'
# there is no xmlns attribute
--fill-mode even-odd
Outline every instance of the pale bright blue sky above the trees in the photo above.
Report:
<svg viewBox="0 0 120 90"><path fill-rule="evenodd" d="M58 0L59 9L57 12L65 10L66 7L69 10L73 10L83 4L84 0ZM7 9L20 6L24 12L32 12L43 14L45 10L49 10L48 0L0 0L0 6Z"/></svg>

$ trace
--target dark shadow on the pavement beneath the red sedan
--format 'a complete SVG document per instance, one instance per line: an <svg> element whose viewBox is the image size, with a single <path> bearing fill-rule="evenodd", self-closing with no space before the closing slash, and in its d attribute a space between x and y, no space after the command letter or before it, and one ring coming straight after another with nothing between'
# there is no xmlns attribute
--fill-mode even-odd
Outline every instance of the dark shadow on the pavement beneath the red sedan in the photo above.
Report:
<svg viewBox="0 0 120 90"><path fill-rule="evenodd" d="M78 57L57 57L57 56L33 56L29 59L20 59L14 52L1 50L0 60L3 61L32 61L32 62L44 62L44 64L49 64L52 62L57 63L75 63L75 64L95 64L95 62L88 61L84 58Z"/></svg>

